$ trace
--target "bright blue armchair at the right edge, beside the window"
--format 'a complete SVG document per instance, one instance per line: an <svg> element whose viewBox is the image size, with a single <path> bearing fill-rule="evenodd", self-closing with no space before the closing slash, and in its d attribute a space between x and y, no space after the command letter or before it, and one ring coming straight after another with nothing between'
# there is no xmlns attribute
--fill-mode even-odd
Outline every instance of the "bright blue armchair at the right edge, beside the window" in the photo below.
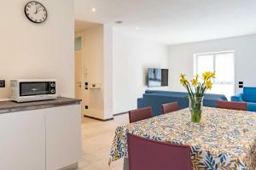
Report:
<svg viewBox="0 0 256 170"><path fill-rule="evenodd" d="M256 88L244 87L241 94L231 96L231 101L247 102L247 111L256 111Z"/></svg>

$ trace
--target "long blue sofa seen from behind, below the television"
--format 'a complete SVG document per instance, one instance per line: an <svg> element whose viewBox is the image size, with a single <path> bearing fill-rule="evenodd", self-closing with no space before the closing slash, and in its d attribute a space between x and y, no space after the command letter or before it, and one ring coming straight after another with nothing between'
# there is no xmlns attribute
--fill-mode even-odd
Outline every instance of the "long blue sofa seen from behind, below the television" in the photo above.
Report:
<svg viewBox="0 0 256 170"><path fill-rule="evenodd" d="M205 94L203 105L216 107L217 100L227 100L223 94ZM143 98L137 99L137 108L151 106L153 116L161 114L160 106L165 103L177 101L178 109L189 107L188 94L184 92L172 92L161 90L146 90Z"/></svg>

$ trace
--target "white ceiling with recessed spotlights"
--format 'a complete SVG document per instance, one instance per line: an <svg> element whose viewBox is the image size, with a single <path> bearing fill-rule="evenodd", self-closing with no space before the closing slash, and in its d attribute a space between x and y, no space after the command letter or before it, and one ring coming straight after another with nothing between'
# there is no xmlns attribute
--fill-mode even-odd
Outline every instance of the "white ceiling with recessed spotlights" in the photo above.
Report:
<svg viewBox="0 0 256 170"><path fill-rule="evenodd" d="M256 0L75 0L75 19L166 44L198 42L256 33Z"/></svg>

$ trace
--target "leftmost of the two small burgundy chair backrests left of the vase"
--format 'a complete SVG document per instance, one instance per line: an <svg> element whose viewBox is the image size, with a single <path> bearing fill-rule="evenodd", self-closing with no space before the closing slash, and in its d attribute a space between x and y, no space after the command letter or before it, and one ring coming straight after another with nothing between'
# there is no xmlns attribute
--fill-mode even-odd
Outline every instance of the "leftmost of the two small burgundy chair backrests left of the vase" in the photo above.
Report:
<svg viewBox="0 0 256 170"><path fill-rule="evenodd" d="M152 117L151 107L144 107L141 109L129 111L129 120L130 122L138 122L143 119L148 119Z"/></svg>

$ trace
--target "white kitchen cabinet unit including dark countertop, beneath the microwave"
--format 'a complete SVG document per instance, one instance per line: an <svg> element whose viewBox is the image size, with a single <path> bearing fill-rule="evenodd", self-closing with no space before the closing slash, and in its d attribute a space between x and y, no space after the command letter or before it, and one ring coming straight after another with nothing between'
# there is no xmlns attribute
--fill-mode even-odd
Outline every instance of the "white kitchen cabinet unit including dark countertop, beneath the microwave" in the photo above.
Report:
<svg viewBox="0 0 256 170"><path fill-rule="evenodd" d="M47 102L0 102L0 170L57 170L80 160L80 101Z"/></svg>

